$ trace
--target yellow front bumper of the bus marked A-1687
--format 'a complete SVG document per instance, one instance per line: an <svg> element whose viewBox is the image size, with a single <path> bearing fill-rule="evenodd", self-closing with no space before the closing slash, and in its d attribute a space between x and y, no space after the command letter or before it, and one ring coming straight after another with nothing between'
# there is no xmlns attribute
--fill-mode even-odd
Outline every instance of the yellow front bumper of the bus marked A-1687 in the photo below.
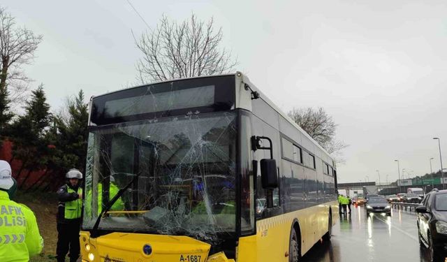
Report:
<svg viewBox="0 0 447 262"><path fill-rule="evenodd" d="M234 262L223 252L208 256L209 244L181 235L115 232L90 238L81 231L80 244L83 262Z"/></svg>

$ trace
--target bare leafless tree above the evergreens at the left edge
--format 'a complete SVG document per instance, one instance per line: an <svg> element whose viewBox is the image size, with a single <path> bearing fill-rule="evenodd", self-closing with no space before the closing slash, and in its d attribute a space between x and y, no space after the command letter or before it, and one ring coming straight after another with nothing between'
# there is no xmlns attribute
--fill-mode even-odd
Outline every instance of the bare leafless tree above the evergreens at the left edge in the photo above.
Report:
<svg viewBox="0 0 447 262"><path fill-rule="evenodd" d="M21 67L30 64L43 36L19 27L14 17L0 7L0 92L8 88L10 103L19 103L27 94L30 79Z"/></svg>

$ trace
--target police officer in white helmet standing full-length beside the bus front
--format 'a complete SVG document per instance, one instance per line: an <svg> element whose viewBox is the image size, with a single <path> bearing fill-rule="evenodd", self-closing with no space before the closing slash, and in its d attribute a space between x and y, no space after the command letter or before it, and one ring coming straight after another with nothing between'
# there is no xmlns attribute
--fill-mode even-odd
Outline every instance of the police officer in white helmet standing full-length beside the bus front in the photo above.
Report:
<svg viewBox="0 0 447 262"><path fill-rule="evenodd" d="M57 191L59 206L57 212L57 261L65 261L70 254L71 262L78 260L80 254L79 231L82 213L82 173L71 169L66 173L67 183Z"/></svg>

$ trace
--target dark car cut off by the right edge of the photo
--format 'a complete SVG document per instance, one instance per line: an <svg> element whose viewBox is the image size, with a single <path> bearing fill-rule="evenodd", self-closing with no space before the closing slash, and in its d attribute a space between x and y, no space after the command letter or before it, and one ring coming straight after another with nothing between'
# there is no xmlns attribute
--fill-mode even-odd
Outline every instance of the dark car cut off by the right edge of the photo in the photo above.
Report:
<svg viewBox="0 0 447 262"><path fill-rule="evenodd" d="M447 190L428 193L416 212L419 244L429 250L431 261L442 259L447 254Z"/></svg>

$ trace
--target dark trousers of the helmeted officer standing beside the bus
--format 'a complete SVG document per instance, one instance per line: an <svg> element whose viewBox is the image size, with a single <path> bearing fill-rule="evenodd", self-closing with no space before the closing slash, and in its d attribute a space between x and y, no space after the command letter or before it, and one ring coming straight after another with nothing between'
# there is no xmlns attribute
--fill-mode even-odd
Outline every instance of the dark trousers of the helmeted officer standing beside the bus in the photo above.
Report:
<svg viewBox="0 0 447 262"><path fill-rule="evenodd" d="M79 244L80 223L57 223L57 262L65 261L65 256L68 254L70 262L75 262L79 258L80 244Z"/></svg>

